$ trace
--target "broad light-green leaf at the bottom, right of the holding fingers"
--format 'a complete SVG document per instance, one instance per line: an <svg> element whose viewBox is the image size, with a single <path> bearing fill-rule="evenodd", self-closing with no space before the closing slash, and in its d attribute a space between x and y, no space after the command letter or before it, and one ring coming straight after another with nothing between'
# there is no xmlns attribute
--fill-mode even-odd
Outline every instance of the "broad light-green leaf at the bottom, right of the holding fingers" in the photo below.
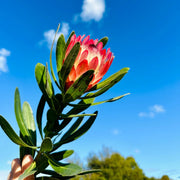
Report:
<svg viewBox="0 0 180 180"><path fill-rule="evenodd" d="M56 171L61 176L74 176L82 171L82 168L76 164L64 164L50 158L48 162L49 165L54 169L54 171Z"/></svg>

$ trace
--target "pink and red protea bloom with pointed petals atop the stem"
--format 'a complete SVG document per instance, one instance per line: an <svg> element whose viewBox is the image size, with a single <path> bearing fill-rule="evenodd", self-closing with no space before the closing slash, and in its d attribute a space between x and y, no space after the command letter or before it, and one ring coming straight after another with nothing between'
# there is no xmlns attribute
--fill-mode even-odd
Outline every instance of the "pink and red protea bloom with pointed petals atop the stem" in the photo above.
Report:
<svg viewBox="0 0 180 180"><path fill-rule="evenodd" d="M65 52L66 59L73 46L77 42L80 43L78 56L65 83L66 90L86 71L94 70L93 79L86 91L90 90L106 74L114 59L110 48L106 51L103 49L103 43L98 43L98 39L93 40L90 36L84 36L76 37L74 34Z"/></svg>

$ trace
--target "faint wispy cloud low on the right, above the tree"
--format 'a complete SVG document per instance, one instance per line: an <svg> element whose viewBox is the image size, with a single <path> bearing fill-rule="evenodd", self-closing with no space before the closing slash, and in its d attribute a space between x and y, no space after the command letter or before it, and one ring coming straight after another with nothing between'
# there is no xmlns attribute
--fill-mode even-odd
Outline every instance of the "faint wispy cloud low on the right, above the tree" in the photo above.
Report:
<svg viewBox="0 0 180 180"><path fill-rule="evenodd" d="M156 114L164 113L165 111L162 105L155 104L149 108L148 112L140 112L138 116L153 118Z"/></svg>

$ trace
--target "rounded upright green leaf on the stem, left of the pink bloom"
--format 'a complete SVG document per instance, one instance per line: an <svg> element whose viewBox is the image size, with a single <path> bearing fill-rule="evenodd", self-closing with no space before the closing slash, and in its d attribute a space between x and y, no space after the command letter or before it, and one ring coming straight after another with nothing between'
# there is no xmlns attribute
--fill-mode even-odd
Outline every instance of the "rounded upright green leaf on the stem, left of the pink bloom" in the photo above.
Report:
<svg viewBox="0 0 180 180"><path fill-rule="evenodd" d="M51 77L47 68L43 65L38 63L35 67L35 77L39 88L41 89L42 93L48 96L50 99L54 95L54 89L51 82Z"/></svg>

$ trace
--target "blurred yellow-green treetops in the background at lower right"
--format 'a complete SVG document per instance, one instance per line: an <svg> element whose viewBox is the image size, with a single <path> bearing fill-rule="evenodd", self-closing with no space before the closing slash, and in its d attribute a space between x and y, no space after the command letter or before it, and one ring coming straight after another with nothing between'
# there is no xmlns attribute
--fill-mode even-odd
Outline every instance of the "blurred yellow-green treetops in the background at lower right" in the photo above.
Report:
<svg viewBox="0 0 180 180"><path fill-rule="evenodd" d="M88 169L99 169L100 172L77 176L72 180L170 180L167 175L160 179L146 177L133 157L124 158L107 149L98 155L91 154L87 161Z"/></svg>

